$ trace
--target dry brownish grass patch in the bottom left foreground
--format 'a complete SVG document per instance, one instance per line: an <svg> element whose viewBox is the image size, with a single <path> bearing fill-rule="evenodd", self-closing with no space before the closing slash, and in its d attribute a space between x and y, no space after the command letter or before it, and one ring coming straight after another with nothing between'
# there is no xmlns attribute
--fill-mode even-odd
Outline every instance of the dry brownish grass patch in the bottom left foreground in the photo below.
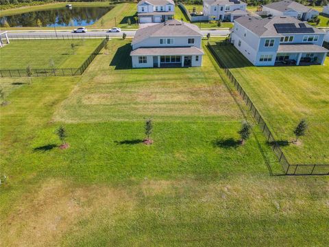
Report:
<svg viewBox="0 0 329 247"><path fill-rule="evenodd" d="M48 180L1 221L3 246L52 246L81 217L106 207L115 211L134 201L125 191L103 186L72 187L64 180ZM37 241L36 241L37 240ZM2 245L2 244L1 244Z"/></svg>

